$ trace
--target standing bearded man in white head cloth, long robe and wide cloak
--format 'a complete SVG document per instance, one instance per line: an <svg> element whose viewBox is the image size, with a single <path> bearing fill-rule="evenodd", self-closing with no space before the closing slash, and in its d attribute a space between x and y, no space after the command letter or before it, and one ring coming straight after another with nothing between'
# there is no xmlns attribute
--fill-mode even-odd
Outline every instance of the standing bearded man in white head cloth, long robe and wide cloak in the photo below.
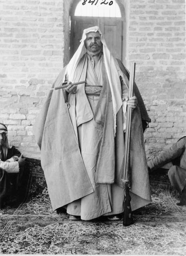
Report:
<svg viewBox="0 0 186 256"><path fill-rule="evenodd" d="M132 210L149 202L150 184L143 128L149 122L140 93L128 99L129 75L114 59L100 28L84 30L81 44L50 91L35 123L36 141L53 209L64 207L71 220L99 216L119 219L124 192L126 105L134 108L131 168ZM72 82L86 81L72 86Z"/></svg>

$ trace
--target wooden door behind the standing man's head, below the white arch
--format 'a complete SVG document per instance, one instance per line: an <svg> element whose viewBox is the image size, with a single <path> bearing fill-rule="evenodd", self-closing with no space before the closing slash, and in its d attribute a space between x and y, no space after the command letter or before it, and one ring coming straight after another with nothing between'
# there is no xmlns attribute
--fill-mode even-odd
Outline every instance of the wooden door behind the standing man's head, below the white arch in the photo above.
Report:
<svg viewBox="0 0 186 256"><path fill-rule="evenodd" d="M99 26L104 34L106 44L115 58L122 59L122 20L120 18L73 17L70 31L70 56L80 45L85 28Z"/></svg>

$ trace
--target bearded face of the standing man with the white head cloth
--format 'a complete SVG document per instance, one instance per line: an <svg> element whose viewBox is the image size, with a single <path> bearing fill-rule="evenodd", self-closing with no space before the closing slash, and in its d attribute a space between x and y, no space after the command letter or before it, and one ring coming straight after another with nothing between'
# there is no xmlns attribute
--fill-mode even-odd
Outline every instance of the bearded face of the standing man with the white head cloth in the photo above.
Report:
<svg viewBox="0 0 186 256"><path fill-rule="evenodd" d="M85 47L89 52L99 53L102 50L101 35L97 32L89 32L86 34L84 41Z"/></svg>

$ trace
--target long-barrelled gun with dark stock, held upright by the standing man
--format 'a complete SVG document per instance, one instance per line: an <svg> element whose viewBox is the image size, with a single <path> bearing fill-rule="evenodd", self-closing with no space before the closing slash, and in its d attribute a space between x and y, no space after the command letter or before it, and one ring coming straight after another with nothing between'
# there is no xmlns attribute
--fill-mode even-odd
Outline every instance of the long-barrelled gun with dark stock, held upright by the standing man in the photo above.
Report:
<svg viewBox="0 0 186 256"><path fill-rule="evenodd" d="M134 78L135 78L136 63L130 64L130 80L128 88L128 97L134 95ZM132 108L127 107L126 118L126 133L125 133L125 147L124 147L124 163L122 169L122 183L124 188L124 218L123 225L129 226L134 223L132 218L132 210L130 206L131 197L129 189L131 187L131 169L130 169L130 140L131 140L131 127L132 127Z"/></svg>

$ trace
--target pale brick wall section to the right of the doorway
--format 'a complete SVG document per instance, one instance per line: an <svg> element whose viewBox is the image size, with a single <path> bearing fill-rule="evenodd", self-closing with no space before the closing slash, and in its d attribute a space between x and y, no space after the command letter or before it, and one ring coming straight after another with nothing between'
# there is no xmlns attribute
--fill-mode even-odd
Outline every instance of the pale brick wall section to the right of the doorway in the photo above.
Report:
<svg viewBox="0 0 186 256"><path fill-rule="evenodd" d="M132 0L128 60L152 120L147 156L186 135L185 1Z"/></svg>

